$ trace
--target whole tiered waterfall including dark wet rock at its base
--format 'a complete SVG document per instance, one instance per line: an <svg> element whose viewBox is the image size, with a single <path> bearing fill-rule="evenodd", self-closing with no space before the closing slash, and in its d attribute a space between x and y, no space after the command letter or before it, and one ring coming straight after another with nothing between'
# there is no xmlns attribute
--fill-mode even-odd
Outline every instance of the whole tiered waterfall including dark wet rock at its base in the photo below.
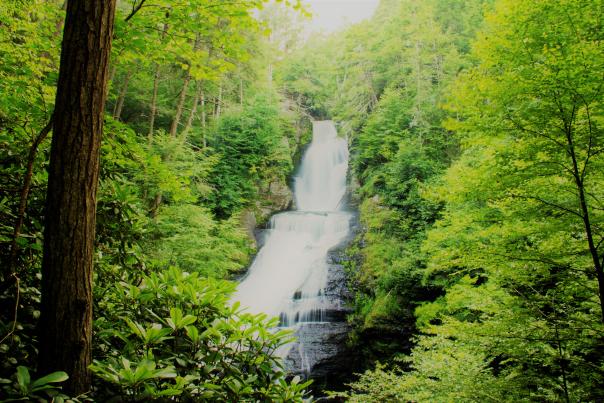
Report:
<svg viewBox="0 0 604 403"><path fill-rule="evenodd" d="M314 122L313 140L294 178L297 210L271 218L233 297L296 331L298 342L280 351L292 374L325 379L345 365L345 276L333 251L349 240L354 222L354 214L344 210L347 171L346 139L337 136L333 122Z"/></svg>

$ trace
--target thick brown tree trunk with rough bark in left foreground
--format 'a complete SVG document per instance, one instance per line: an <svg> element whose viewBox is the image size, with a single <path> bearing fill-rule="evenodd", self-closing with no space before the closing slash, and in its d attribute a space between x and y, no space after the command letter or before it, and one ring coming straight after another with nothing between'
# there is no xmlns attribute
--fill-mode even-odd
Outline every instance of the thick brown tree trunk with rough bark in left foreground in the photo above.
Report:
<svg viewBox="0 0 604 403"><path fill-rule="evenodd" d="M38 372L90 389L92 262L103 115L116 0L69 1L53 121Z"/></svg>

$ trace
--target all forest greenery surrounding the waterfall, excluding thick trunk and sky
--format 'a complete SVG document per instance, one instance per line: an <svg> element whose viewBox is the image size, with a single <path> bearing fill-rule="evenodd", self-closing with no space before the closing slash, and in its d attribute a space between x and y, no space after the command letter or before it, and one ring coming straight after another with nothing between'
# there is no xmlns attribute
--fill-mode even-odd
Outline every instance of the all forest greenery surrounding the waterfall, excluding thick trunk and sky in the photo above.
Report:
<svg viewBox="0 0 604 403"><path fill-rule="evenodd" d="M381 0L330 35L298 2L117 2L84 394L37 330L67 3L0 4L2 399L309 398L290 332L229 298L322 119L360 215L328 394L604 399L601 1Z"/></svg>

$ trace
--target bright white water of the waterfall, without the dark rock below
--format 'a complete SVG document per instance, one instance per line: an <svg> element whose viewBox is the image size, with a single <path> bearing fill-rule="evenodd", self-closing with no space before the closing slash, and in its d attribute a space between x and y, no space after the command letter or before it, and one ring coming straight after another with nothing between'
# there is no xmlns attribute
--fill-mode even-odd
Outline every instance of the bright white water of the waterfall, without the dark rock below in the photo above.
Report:
<svg viewBox="0 0 604 403"><path fill-rule="evenodd" d="M313 140L294 182L296 211L273 216L265 244L233 299L253 313L279 316L282 326L322 322L328 308L327 252L350 231L341 210L348 145L332 121L313 123Z"/></svg>

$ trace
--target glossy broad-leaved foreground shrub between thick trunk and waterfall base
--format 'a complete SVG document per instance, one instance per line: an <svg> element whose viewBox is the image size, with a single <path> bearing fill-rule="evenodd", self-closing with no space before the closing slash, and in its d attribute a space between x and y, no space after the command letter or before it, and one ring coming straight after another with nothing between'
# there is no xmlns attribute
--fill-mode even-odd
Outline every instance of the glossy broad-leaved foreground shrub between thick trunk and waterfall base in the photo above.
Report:
<svg viewBox="0 0 604 403"><path fill-rule="evenodd" d="M102 398L178 396L209 401L296 401L308 382L283 380L273 353L290 341L277 318L229 305L234 285L170 268L117 284L100 302L93 372Z"/></svg>

